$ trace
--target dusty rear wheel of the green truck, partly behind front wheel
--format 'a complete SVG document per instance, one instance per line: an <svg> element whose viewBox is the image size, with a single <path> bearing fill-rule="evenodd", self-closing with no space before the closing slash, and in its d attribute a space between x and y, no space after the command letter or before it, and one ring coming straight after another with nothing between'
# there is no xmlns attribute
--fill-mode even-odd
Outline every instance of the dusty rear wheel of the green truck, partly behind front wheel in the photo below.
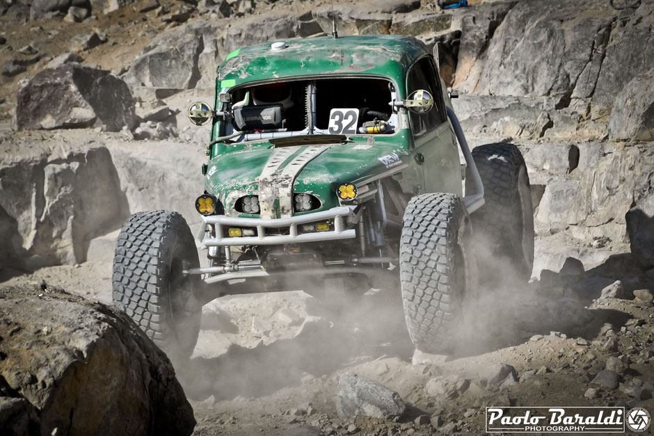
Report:
<svg viewBox="0 0 654 436"><path fill-rule="evenodd" d="M479 271L491 280L526 282L534 266L534 208L525 159L513 144L481 145L472 157L486 200L472 213Z"/></svg>

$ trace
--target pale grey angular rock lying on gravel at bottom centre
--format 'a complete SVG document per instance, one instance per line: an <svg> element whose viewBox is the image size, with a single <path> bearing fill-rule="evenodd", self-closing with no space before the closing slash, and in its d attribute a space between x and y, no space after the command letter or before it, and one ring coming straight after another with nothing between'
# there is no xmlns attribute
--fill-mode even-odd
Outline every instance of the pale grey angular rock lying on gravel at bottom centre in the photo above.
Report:
<svg viewBox="0 0 654 436"><path fill-rule="evenodd" d="M336 391L336 412L342 419L365 415L393 419L406 405L397 392L353 373L343 373Z"/></svg>

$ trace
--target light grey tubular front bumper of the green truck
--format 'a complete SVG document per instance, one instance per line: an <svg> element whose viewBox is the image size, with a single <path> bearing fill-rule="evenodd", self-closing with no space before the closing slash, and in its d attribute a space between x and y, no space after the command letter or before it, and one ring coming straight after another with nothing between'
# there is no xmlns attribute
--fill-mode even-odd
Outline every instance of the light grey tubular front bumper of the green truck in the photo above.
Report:
<svg viewBox="0 0 654 436"><path fill-rule="evenodd" d="M260 218L235 218L224 215L203 216L205 225L200 227L196 236L198 248L229 247L242 245L282 245L288 243L335 241L338 239L350 239L356 237L355 229L345 229L345 220L356 217L356 206L339 206L326 211L307 213L301 216L290 218L260 219ZM333 220L333 230L326 232L298 232L298 225L318 223L321 221ZM214 225L215 237L207 233L207 225ZM257 229L256 236L225 236L225 227L251 227ZM288 234L270 234L269 231L288 227Z"/></svg>

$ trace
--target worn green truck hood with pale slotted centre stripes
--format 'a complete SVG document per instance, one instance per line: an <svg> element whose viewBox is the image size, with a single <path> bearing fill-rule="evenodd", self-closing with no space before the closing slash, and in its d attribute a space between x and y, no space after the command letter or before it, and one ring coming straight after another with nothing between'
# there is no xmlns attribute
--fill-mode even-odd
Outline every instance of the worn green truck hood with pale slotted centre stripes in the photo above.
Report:
<svg viewBox="0 0 654 436"><path fill-rule="evenodd" d="M210 161L207 192L223 202L225 214L230 216L252 216L234 210L244 195L259 196L261 218L294 215L294 193L317 197L321 206L315 211L330 209L339 204L339 184L361 184L392 168L405 168L402 163L408 154L401 145L404 141L394 136L334 145L272 147L262 143L221 154Z"/></svg>

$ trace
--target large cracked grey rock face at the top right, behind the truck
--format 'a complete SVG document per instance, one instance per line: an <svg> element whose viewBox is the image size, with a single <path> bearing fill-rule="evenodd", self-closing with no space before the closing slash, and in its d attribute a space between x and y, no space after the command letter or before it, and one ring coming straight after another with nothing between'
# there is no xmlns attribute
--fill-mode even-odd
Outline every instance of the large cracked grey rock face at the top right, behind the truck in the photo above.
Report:
<svg viewBox="0 0 654 436"><path fill-rule="evenodd" d="M520 1L493 35L475 92L491 95L580 97L591 94L612 19L593 5L583 17L569 1ZM584 74L585 73L585 74ZM577 81L583 90L577 90Z"/></svg>

